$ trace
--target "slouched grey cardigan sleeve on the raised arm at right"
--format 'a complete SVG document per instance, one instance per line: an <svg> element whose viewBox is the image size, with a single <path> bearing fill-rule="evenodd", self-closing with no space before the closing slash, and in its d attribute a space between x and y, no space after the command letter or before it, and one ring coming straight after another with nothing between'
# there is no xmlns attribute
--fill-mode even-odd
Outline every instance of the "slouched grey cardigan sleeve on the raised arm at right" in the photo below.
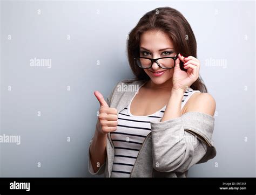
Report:
<svg viewBox="0 0 256 195"><path fill-rule="evenodd" d="M194 164L216 156L212 134L214 117L187 112L160 122L151 121L153 168L160 172L185 172Z"/></svg>

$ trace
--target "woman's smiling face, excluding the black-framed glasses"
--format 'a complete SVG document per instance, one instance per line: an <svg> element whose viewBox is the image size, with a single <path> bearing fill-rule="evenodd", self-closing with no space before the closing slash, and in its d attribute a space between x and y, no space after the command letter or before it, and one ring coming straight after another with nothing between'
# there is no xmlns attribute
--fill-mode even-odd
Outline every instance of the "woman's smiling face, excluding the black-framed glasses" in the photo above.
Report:
<svg viewBox="0 0 256 195"><path fill-rule="evenodd" d="M140 36L140 57L146 58L163 58L174 57L176 52L174 51L172 40L161 31L146 31ZM160 63L161 64L161 63ZM163 69L160 68L156 62L153 63L149 69L144 69L145 73L149 75L151 81L156 85L160 85L170 80L173 75L173 68ZM163 71L163 73L156 75L153 72Z"/></svg>

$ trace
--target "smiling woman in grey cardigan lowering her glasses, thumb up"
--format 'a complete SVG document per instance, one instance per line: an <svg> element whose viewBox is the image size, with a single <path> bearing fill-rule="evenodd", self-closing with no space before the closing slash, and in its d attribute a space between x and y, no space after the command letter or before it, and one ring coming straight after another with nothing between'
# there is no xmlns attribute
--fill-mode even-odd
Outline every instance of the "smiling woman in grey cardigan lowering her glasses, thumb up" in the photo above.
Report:
<svg viewBox="0 0 256 195"><path fill-rule="evenodd" d="M197 44L175 9L147 12L130 32L127 53L136 79L117 83L100 103L89 147L89 172L105 177L186 177L216 156L215 101L199 78ZM118 90L138 86L137 93Z"/></svg>

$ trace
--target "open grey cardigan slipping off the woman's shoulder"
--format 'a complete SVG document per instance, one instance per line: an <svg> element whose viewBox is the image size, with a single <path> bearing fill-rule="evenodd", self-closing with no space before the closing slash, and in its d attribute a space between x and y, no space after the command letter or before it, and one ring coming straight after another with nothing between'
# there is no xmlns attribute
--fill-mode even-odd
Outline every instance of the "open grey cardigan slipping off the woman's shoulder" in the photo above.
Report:
<svg viewBox="0 0 256 195"><path fill-rule="evenodd" d="M122 85L140 87L144 82L136 79L119 81L107 96L107 104L116 108L119 113L129 105L136 92L120 91L117 86L123 83ZM192 165L207 162L216 156L212 140L213 116L200 112L187 112L175 119L163 122L160 120L158 118L151 121L151 133L146 136L142 144L130 177L187 177L188 169ZM99 128L99 120L96 128ZM191 137L196 142L188 142ZM91 142L92 139L90 144ZM111 176L114 145L110 133L107 134L106 152L106 161L97 172L94 172L89 150L87 151L88 169L92 175L105 173L105 177Z"/></svg>

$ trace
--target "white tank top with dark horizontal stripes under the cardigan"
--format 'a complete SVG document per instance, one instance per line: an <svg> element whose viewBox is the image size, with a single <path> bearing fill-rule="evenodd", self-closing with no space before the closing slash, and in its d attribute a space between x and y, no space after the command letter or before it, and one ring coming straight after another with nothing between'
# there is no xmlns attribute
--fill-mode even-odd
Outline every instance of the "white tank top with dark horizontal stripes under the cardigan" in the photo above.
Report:
<svg viewBox="0 0 256 195"><path fill-rule="evenodd" d="M190 87L185 91L181 109L195 92L200 91L193 90ZM114 144L114 162L111 177L130 177L142 143L145 137L151 132L150 121L163 117L166 108L165 105L154 114L134 116L130 113L131 102L119 112L117 130L110 133L111 140Z"/></svg>

